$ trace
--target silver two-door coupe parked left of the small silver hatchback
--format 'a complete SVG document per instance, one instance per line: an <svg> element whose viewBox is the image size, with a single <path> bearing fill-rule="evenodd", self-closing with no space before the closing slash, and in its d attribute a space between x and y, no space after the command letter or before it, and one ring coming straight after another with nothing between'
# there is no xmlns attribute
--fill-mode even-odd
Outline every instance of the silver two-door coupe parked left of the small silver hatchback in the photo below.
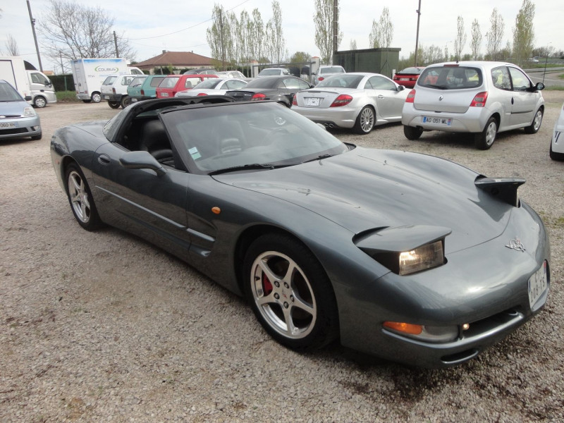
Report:
<svg viewBox="0 0 564 423"><path fill-rule="evenodd" d="M294 96L292 110L326 127L353 128L401 121L407 90L379 73L338 73Z"/></svg>

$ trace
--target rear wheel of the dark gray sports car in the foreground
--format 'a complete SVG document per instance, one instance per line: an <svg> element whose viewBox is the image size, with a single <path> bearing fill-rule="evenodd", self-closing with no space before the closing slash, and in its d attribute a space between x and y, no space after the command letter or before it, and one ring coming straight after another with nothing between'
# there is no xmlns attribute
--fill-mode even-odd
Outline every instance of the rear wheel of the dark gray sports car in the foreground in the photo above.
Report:
<svg viewBox="0 0 564 423"><path fill-rule="evenodd" d="M78 224L87 231L102 226L90 187L77 164L71 163L66 167L65 184L68 203Z"/></svg>

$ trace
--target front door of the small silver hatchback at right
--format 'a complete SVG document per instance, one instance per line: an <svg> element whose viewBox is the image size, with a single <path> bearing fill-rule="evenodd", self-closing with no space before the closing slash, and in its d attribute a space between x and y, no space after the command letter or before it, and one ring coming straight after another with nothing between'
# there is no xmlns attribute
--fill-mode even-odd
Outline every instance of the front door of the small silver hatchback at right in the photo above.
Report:
<svg viewBox="0 0 564 423"><path fill-rule="evenodd" d="M526 126L531 123L537 106L537 92L528 91L532 82L520 69L508 67L513 87L511 99L511 125Z"/></svg>

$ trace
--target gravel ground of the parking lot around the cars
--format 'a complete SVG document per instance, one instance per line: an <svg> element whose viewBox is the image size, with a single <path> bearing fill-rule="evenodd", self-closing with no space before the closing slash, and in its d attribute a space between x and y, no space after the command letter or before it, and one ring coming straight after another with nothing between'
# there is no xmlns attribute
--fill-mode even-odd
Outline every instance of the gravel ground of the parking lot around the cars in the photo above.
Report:
<svg viewBox="0 0 564 423"><path fill-rule="evenodd" d="M114 228L75 222L49 157L53 131L114 116L107 104L39 109L44 137L0 142L1 422L563 422L564 163L548 143L564 92L546 91L541 130L469 137L401 125L367 147L433 154L527 179L521 197L551 236L545 309L459 367L412 369L333 345L286 350L245 302Z"/></svg>

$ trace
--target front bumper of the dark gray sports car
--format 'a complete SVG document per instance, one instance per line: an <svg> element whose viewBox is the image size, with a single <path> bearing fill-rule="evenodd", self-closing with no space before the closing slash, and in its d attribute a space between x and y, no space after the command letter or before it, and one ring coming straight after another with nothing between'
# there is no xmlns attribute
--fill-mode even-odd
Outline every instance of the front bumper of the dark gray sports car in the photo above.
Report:
<svg viewBox="0 0 564 423"><path fill-rule="evenodd" d="M507 247L516 236L525 251ZM501 341L546 303L550 289L548 236L525 203L513 209L498 238L450 253L446 259L441 267L411 276L388 273L367 283L346 283L341 292L341 285L336 284L341 299L341 343L394 362L450 367ZM529 278L545 260L547 288L529 305ZM364 279L354 270L348 278ZM431 343L388 331L382 326L384 321L460 328L469 324L470 328L460 329L453 341Z"/></svg>

